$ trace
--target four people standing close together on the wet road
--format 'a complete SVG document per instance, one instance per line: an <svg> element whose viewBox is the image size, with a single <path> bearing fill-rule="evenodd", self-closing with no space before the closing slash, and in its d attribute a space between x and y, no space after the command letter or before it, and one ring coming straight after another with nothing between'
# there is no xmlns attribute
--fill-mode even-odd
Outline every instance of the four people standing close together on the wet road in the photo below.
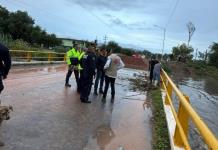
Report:
<svg viewBox="0 0 218 150"><path fill-rule="evenodd" d="M103 47L100 51L96 51L94 44L90 44L88 49L79 49L78 45L74 44L74 47L67 52L67 64L65 86L71 87L69 79L74 72L81 102L91 103L89 95L94 78L94 94L98 95L99 91L99 94L103 94L102 100L105 101L110 84L111 102L114 102L117 71L124 67L124 63L118 55L112 54L112 50Z"/></svg>

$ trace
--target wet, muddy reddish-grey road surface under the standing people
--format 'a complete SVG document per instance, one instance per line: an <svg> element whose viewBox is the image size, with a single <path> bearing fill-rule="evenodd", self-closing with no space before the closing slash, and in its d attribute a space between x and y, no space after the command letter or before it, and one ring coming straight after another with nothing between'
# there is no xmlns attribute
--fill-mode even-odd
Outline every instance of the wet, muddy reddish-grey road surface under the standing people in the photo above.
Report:
<svg viewBox="0 0 218 150"><path fill-rule="evenodd" d="M83 104L75 80L65 88L65 65L16 67L5 80L2 105L12 105L11 120L3 122L0 150L150 150L150 109L145 94L131 92L121 70L115 102L91 93ZM137 72L136 72L137 73Z"/></svg>

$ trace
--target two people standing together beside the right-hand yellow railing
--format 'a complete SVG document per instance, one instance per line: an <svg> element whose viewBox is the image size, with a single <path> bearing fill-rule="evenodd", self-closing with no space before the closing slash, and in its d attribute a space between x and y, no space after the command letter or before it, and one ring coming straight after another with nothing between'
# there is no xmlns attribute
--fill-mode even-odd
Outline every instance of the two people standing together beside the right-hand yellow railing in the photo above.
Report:
<svg viewBox="0 0 218 150"><path fill-rule="evenodd" d="M161 63L159 60L156 60L154 57L151 57L149 61L149 79L150 83L154 86L159 86L160 83L160 73L161 73Z"/></svg>

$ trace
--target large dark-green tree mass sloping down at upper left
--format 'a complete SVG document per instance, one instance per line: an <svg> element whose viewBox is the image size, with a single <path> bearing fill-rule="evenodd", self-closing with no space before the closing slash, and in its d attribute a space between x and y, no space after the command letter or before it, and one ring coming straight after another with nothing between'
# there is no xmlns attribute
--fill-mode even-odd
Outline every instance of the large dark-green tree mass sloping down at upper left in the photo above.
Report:
<svg viewBox="0 0 218 150"><path fill-rule="evenodd" d="M0 6L0 42L13 49L53 48L61 44L55 34L35 25L27 12L9 12Z"/></svg>

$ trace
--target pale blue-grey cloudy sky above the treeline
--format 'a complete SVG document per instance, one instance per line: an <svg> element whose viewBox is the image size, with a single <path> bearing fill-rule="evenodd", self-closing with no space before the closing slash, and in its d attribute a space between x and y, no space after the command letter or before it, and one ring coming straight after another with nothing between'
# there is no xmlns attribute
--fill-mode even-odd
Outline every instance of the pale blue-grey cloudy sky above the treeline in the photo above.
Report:
<svg viewBox="0 0 218 150"><path fill-rule="evenodd" d="M218 42L217 0L0 0L10 11L27 11L35 23L58 37L84 40L104 36L125 47L161 53L187 43L186 24L196 27L191 45L204 52Z"/></svg>

